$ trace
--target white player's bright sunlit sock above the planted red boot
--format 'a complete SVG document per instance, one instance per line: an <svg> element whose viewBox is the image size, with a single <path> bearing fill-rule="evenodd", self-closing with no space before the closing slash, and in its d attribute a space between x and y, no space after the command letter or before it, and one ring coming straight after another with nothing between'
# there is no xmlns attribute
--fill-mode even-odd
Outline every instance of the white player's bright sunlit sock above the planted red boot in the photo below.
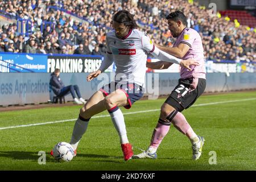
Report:
<svg viewBox="0 0 256 182"><path fill-rule="evenodd" d="M120 143L125 144L129 143L129 140L126 135L126 127L125 127L125 118L123 118L123 113L120 109L117 109L113 113L109 112L112 122L115 126L115 129L118 132Z"/></svg>

